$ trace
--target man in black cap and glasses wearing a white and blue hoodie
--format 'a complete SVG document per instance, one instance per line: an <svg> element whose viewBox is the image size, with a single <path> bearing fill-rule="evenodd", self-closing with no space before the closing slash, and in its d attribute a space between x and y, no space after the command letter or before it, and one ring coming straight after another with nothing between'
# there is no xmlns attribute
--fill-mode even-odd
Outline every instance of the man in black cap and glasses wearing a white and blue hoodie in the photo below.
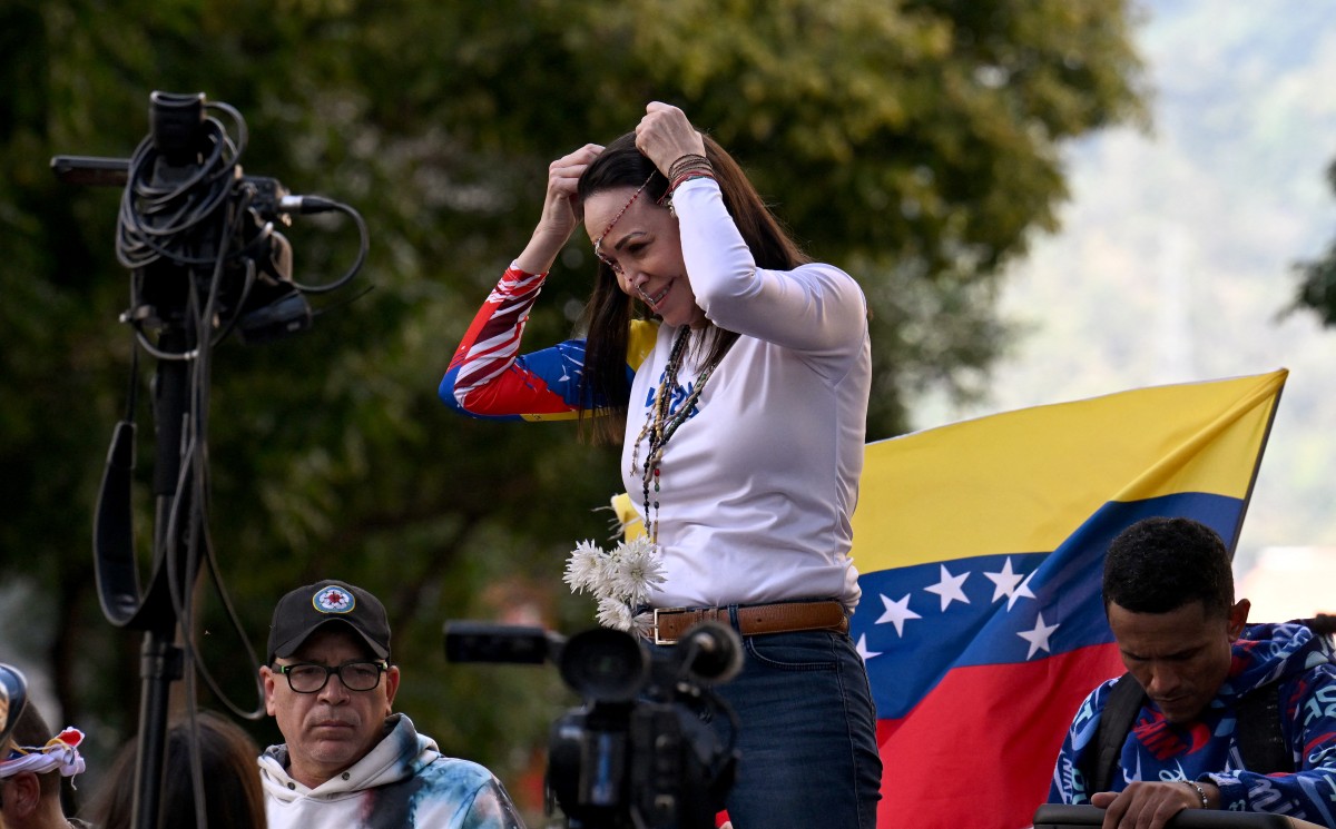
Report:
<svg viewBox="0 0 1336 829"><path fill-rule="evenodd" d="M366 590L323 581L279 599L259 673L287 741L259 758L270 829L524 826L490 772L391 713L399 669Z"/></svg>

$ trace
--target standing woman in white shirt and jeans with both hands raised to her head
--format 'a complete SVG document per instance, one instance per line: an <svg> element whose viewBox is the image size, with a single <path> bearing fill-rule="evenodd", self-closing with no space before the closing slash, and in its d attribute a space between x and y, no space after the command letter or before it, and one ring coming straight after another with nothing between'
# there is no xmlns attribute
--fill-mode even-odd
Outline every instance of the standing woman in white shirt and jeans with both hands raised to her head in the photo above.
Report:
<svg viewBox="0 0 1336 829"><path fill-rule="evenodd" d="M582 220L597 279L580 339L520 355L529 308ZM704 619L743 637L716 690L741 722L737 829L863 826L880 760L848 637L848 557L871 382L867 308L812 262L681 109L553 162L542 216L460 343L441 398L474 417L599 415L664 582L655 646Z"/></svg>

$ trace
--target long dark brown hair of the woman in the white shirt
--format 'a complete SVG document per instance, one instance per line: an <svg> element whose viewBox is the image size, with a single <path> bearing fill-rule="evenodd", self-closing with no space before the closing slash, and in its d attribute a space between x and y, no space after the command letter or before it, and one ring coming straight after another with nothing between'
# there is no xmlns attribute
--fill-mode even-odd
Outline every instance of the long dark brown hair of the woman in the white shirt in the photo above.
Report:
<svg viewBox="0 0 1336 829"><path fill-rule="evenodd" d="M719 190L724 196L724 207L751 250L756 266L792 270L811 262L770 211L737 162L719 142L704 133L701 137L705 142L705 158L713 167L715 180L719 182ZM641 198L648 196L655 203L660 203L668 191L668 179L636 148L636 133L628 132L609 143L580 176L580 202L584 203L591 196L609 190L636 188L641 184L645 184ZM612 417L596 421L595 442L621 438L631 396L632 372L627 368L631 320L648 319L649 315L649 310L641 302L621 290L612 267L597 259L593 292L581 316L585 362L580 380L580 414L582 418L593 400L601 399L607 402L607 410L600 408L599 414ZM737 334L713 323L707 324L708 334L700 347L707 350L705 362L717 363L732 347Z"/></svg>

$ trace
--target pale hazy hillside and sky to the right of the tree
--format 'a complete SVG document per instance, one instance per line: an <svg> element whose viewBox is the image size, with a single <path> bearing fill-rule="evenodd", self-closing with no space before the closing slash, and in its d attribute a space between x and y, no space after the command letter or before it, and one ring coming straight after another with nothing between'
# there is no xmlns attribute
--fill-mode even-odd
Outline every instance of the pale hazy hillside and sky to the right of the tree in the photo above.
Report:
<svg viewBox="0 0 1336 829"><path fill-rule="evenodd" d="M1336 331L1288 310L1296 264L1336 236L1336 9L1141 8L1153 129L1113 128L1065 148L1062 230L1035 242L1002 291L1002 315L1025 332L985 402L929 395L915 421L1287 367L1236 574L1264 597L1255 618L1331 611Z"/></svg>

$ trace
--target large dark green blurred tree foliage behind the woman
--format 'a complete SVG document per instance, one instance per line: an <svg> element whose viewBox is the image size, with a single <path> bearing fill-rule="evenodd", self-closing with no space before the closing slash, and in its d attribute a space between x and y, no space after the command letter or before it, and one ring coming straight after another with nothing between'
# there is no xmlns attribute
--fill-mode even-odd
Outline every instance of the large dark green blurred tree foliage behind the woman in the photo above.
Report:
<svg viewBox="0 0 1336 829"><path fill-rule="evenodd" d="M434 390L537 219L548 162L629 131L649 100L681 105L810 252L860 279L868 437L888 437L919 391L985 380L1007 336L998 279L1066 196L1062 144L1142 117L1129 16L1098 0L12 0L0 575L53 610L11 645L49 666L65 720L134 730L138 639L99 613L90 517L127 384L146 387L152 363L131 375L116 320L119 192L59 183L48 162L130 155L150 92L236 107L246 172L353 204L371 228L351 291L367 292L318 303L299 336L215 355L210 533L243 635L262 649L273 602L295 585L366 586L391 614L399 708L518 785L570 700L554 671L446 666L441 623L592 623L561 562L609 533L596 507L619 489L616 459L569 425L457 418ZM298 219L289 236L302 282L355 252L338 220ZM573 243L529 342L569 334L591 268ZM142 446L140 482L148 467ZM150 497L138 503L148 537ZM204 606L202 655L248 706L255 666L208 590Z"/></svg>

